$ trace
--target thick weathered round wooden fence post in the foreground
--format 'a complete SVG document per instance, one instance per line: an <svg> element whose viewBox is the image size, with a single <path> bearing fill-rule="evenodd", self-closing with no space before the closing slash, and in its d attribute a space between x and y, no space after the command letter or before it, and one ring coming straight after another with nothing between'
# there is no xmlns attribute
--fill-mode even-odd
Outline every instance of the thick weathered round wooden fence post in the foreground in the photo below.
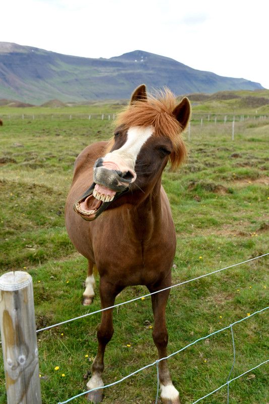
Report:
<svg viewBox="0 0 269 404"><path fill-rule="evenodd" d="M33 282L27 272L0 277L0 329L8 404L41 404Z"/></svg>

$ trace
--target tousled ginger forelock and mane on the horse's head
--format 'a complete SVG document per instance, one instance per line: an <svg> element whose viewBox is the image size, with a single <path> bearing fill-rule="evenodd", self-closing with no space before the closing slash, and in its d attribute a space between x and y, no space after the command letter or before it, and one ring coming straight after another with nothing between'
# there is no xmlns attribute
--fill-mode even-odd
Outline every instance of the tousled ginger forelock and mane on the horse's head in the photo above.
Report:
<svg viewBox="0 0 269 404"><path fill-rule="evenodd" d="M130 126L154 127L154 135L165 136L172 141L173 151L169 156L172 169L175 169L186 159L187 151L181 138L182 126L173 115L177 105L174 94L167 88L159 91L156 96L150 95L147 100L131 103L120 112L115 119L115 125L123 128ZM113 140L110 141L111 149Z"/></svg>

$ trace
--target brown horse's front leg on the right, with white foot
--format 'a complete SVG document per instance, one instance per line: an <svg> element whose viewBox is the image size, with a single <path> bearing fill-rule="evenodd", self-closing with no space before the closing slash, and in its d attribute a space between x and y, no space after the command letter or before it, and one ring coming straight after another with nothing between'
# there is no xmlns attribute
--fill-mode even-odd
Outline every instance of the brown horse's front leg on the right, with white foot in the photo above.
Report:
<svg viewBox="0 0 269 404"><path fill-rule="evenodd" d="M171 280L166 279L166 282L159 285L158 289L169 287L170 284ZM153 292L156 291L156 289L150 289L150 291ZM170 290L168 289L151 296L154 314L154 329L152 336L158 349L159 359L167 357L168 332L166 328L165 308L169 292ZM167 359L159 362L159 380L163 404L180 404L179 393L173 386Z"/></svg>

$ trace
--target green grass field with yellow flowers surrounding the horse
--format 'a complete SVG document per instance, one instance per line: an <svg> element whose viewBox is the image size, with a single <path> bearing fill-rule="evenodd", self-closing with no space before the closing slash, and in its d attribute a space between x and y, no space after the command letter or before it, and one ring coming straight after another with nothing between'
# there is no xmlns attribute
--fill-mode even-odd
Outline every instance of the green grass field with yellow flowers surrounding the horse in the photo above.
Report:
<svg viewBox="0 0 269 404"><path fill-rule="evenodd" d="M0 108L0 273L22 270L33 277L37 329L100 309L98 291L90 308L81 305L87 265L66 234L64 204L76 156L112 135L107 115L102 120L100 114L112 117L114 112L111 104ZM231 116L226 124L219 116L215 124L204 112L194 108L189 140L185 134L188 162L177 172L167 167L163 175L177 232L173 284L269 252L269 120L247 119L249 111L244 121L237 116L232 141ZM210 113L218 110L211 107ZM267 307L268 263L266 256L173 288L167 305L169 354ZM128 288L116 303L146 293L142 286ZM43 404L85 391L100 318L89 316L37 334ZM152 324L150 298L114 310L105 384L155 362ZM236 361L230 378L269 359L268 325L264 311L233 326ZM233 363L230 330L197 342L169 363L181 403L192 403L227 381ZM4 404L2 361L0 381ZM268 383L267 363L230 384L229 403L267 404ZM156 391L154 366L105 389L104 402L154 403ZM227 387L200 402L226 403Z"/></svg>

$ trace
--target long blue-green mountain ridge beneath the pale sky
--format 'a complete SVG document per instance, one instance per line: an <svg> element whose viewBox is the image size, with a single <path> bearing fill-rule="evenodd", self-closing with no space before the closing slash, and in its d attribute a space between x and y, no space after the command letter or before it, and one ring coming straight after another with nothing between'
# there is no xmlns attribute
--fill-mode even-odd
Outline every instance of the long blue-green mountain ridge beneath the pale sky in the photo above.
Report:
<svg viewBox="0 0 269 404"><path fill-rule="evenodd" d="M61 102L124 99L141 83L149 88L166 85L176 95L263 88L243 78L195 70L143 51L91 59L0 42L0 98L31 104L55 98Z"/></svg>

